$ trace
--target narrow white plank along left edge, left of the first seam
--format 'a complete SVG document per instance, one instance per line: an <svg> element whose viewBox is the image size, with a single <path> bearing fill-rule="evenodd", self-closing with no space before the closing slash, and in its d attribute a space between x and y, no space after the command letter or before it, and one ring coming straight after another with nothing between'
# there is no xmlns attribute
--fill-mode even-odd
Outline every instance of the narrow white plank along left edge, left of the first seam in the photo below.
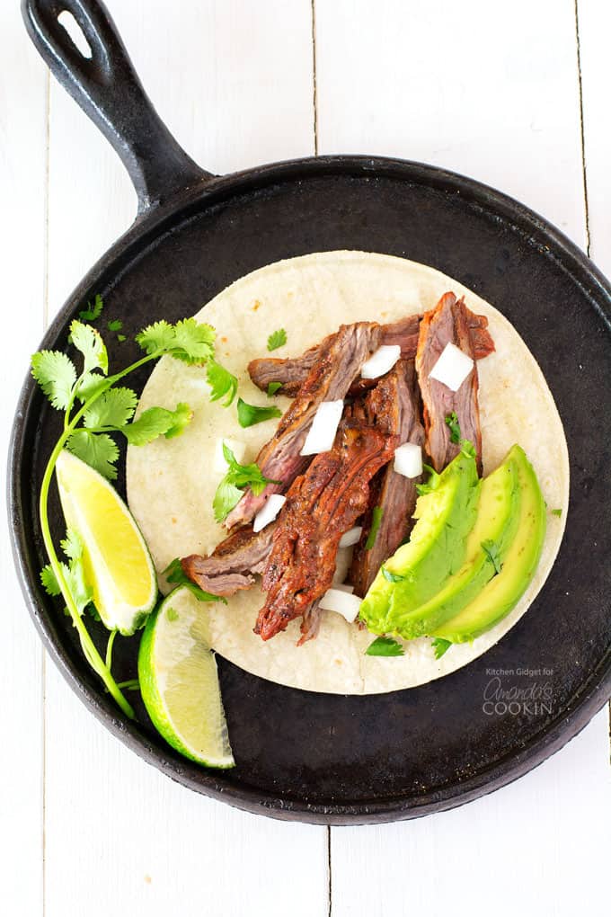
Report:
<svg viewBox="0 0 611 917"><path fill-rule="evenodd" d="M30 353L42 333L45 294L47 74L27 47L18 4L0 6L0 250L5 319L0 389L2 454ZM10 79L8 74L10 73ZM0 471L5 493L5 461ZM0 721L0 888L8 912L42 906L42 646L21 596L6 525L0 534L3 635ZM26 879L27 877L27 879Z"/></svg>

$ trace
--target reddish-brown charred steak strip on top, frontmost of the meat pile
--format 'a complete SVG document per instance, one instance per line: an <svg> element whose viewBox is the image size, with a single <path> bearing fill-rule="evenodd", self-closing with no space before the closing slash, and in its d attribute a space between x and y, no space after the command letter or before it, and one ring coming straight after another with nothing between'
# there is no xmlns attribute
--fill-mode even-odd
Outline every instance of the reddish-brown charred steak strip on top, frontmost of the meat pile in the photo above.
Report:
<svg viewBox="0 0 611 917"><path fill-rule="evenodd" d="M396 447L396 437L352 419L340 428L333 449L316 456L293 481L263 571L267 596L255 633L264 640L300 615L307 638L311 606L333 581L340 538L366 511L369 481Z"/></svg>

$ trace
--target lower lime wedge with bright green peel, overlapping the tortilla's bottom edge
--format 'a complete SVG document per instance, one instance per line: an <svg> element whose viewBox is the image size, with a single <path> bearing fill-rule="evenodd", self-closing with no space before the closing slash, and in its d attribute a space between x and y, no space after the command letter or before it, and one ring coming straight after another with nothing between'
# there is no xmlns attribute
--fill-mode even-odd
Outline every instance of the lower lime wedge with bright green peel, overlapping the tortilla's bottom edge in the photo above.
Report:
<svg viewBox="0 0 611 917"><path fill-rule="evenodd" d="M233 768L206 606L180 586L147 621L138 653L142 700L166 742L208 768Z"/></svg>

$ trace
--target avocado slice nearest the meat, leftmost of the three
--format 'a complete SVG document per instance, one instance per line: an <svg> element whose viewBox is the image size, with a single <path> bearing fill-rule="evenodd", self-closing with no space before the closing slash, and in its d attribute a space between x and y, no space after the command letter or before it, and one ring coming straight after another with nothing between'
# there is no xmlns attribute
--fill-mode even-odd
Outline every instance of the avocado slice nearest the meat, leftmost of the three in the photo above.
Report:
<svg viewBox="0 0 611 917"><path fill-rule="evenodd" d="M417 522L409 542L398 547L369 587L360 617L372 633L396 630L392 602L402 612L418 608L461 569L480 489L475 452L471 452L460 452L441 475L432 473L429 492L416 503Z"/></svg>

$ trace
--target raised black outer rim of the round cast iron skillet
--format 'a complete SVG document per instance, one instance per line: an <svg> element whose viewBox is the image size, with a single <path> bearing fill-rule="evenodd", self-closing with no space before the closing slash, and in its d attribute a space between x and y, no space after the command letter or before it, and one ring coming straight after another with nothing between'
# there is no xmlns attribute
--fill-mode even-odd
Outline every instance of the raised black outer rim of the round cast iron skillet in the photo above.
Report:
<svg viewBox="0 0 611 917"><path fill-rule="evenodd" d="M498 192L486 184L467 178L453 171L409 160L367 156L326 156L288 160L279 163L240 171L231 175L208 180L192 186L171 198L166 204L149 209L136 218L125 234L108 249L87 272L82 281L62 305L58 315L50 324L43 346L55 340L66 325L69 315L82 303L83 296L104 274L118 276L125 265L132 263L139 250L158 238L172 220L184 219L201 212L206 206L223 202L240 193L252 192L270 184L304 181L324 175L353 175L355 178L395 178L412 183L433 186L446 193L460 194L469 203L486 211L488 215L503 218L513 229L520 232L529 242L540 249L543 257L556 260L583 291L595 311L611 330L611 284L598 271L587 255L555 226L524 204ZM122 265L123 264L123 268ZM605 302L601 303L601 299ZM171 779L191 790L209 795L249 812L258 812L283 820L299 820L309 823L347 824L381 823L418 817L430 812L444 811L472 801L487 792L500 789L537 767L543 760L559 750L566 742L584 728L584 725L601 709L611 694L611 654L607 652L582 690L573 695L571 702L551 724L529 741L518 754L500 758L488 768L464 781L431 790L425 797L394 796L384 800L357 801L351 803L308 802L275 797L248 785L233 785L216 779L213 771L191 768L186 762L177 761L168 751L164 756L158 747L142 735L136 724L127 723L104 697L82 679L79 670L72 664L70 655L63 649L53 626L52 616L46 607L38 603L33 589L31 571L27 565L27 539L20 499L20 466L24 449L23 436L28 427L31 401L36 383L27 375L16 409L9 445L7 475L7 507L11 544L15 558L17 576L27 602L27 608L37 627L43 645L49 650L63 677L72 690L81 698L94 716L102 721L113 735L126 746L136 751L147 764L154 765ZM511 762L507 766L508 761ZM191 777L191 773L193 776Z"/></svg>

